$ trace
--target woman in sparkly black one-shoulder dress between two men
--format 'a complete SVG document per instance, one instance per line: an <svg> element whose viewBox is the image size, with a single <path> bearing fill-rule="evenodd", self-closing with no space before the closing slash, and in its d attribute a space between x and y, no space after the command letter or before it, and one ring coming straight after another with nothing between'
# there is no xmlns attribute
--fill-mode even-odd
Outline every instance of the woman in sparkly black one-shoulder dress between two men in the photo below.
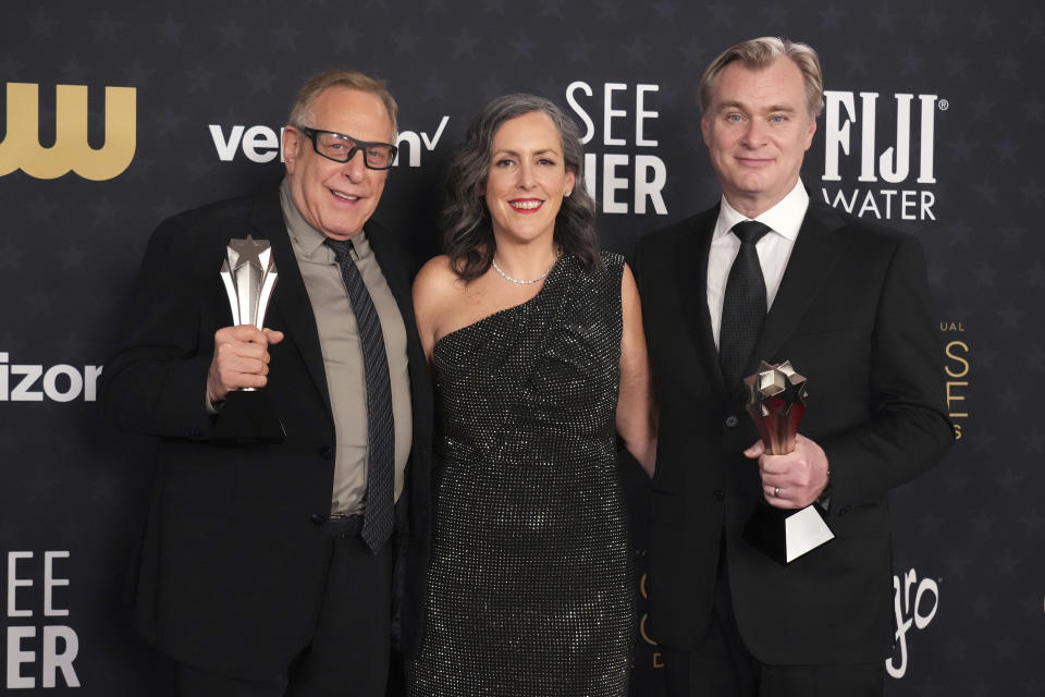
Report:
<svg viewBox="0 0 1045 697"><path fill-rule="evenodd" d="M414 285L439 440L414 697L623 697L635 586L616 439L652 473L638 291L601 253L577 127L507 95L450 169Z"/></svg>

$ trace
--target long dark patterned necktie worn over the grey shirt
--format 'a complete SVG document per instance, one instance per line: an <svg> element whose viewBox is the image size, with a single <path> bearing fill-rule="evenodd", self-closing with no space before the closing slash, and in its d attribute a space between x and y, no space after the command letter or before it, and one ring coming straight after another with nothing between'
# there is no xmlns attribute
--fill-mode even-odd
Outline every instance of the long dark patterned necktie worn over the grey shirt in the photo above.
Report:
<svg viewBox="0 0 1045 697"><path fill-rule="evenodd" d="M362 370L367 382L367 498L360 537L374 552L392 535L394 524L393 486L395 482L395 429L392 421L392 387L389 359L384 352L381 321L352 260L351 242L325 241L337 256L341 278L356 315Z"/></svg>

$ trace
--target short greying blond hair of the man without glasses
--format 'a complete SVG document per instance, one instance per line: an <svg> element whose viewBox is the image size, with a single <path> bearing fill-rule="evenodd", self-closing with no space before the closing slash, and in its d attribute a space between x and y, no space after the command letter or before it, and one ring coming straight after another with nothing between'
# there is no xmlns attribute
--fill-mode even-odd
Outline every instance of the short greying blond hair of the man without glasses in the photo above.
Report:
<svg viewBox="0 0 1045 697"><path fill-rule="evenodd" d="M775 36L762 36L741 41L727 48L712 61L708 70L704 71L703 77L700 78L700 86L697 88L697 99L701 113L706 114L711 108L715 80L718 78L718 74L726 65L734 61L740 61L748 70L758 71L769 68L782 56L791 59L798 70L801 71L802 81L806 83L806 106L809 108L811 117L819 117L824 108L824 75L820 69L820 59L816 57L816 51L807 44L799 44Z"/></svg>

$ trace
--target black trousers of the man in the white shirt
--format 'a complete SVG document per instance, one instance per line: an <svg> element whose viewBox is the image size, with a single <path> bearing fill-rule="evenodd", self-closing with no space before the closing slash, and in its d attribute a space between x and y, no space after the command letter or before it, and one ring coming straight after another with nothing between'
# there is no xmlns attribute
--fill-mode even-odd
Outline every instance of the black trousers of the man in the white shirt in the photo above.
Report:
<svg viewBox="0 0 1045 697"><path fill-rule="evenodd" d="M729 594L725 541L711 622L693 650L661 646L668 697L882 697L885 660L851 665L769 665L748 651Z"/></svg>

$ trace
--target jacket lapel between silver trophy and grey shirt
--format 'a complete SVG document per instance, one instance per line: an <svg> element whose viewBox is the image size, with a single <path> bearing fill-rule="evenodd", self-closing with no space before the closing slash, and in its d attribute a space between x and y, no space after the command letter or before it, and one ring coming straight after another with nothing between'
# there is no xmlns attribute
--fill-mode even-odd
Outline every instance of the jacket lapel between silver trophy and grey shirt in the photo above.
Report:
<svg viewBox="0 0 1045 697"><path fill-rule="evenodd" d="M279 313L286 327L286 339L297 346L316 389L323 398L330 412L330 393L327 388L327 371L323 368L323 353L319 346L319 331L316 329L316 316L312 304L305 290L305 280L297 266L294 248L286 233L283 211L280 209L280 196L276 191L259 194L254 200L250 224L256 236L272 244L272 256L279 273L275 290L272 293L272 307Z"/></svg>

